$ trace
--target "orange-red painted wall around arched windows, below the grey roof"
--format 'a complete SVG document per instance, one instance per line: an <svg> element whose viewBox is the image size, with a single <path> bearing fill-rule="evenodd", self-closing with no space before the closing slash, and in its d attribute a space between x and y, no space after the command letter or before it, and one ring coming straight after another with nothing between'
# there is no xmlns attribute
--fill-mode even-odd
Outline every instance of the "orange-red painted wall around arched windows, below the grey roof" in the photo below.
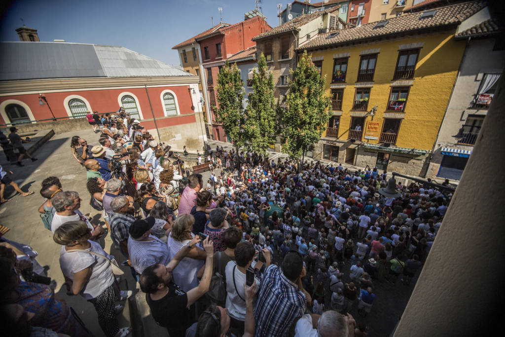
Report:
<svg viewBox="0 0 505 337"><path fill-rule="evenodd" d="M217 75L217 74L216 74ZM188 85L181 86L163 86L163 87L148 87L149 98L151 100L151 104L153 105L153 111L155 117L164 117L165 110L160 98L162 91L169 89L172 90L177 98L178 103L178 112L181 117L177 118L167 118L162 119L158 122L158 127L164 126L172 126L179 124L186 124L195 122L195 116L182 116L184 114L192 113L191 110L191 99L189 96ZM153 114L151 113L151 109L149 106L149 101L147 99L147 93L145 92L144 87L140 88L128 88L128 89L100 89L100 90L84 90L84 91L66 91L66 92L49 92L44 93L45 98L55 117L68 117L67 111L64 106L64 100L69 95L79 95L85 98L91 109L94 111L102 112L115 112L119 109L118 105L118 96L125 92L133 93L139 102L140 110L142 111L142 115L144 119L153 118ZM18 100L30 108L33 117L35 119L51 119L52 115L47 108L47 105L39 105L38 94L21 94L21 95L10 95L5 97L0 97L0 104L7 100ZM5 121L2 117L0 117L0 124L5 124L9 121ZM154 128L154 122L144 122L147 128ZM152 127L150 124L153 124Z"/></svg>

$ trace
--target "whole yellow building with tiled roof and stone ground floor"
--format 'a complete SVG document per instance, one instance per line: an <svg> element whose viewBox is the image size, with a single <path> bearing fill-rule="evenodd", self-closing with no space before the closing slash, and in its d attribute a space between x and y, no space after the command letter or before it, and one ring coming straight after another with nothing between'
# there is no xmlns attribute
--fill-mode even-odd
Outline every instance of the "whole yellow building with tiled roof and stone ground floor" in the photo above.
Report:
<svg viewBox="0 0 505 337"><path fill-rule="evenodd" d="M313 158L425 175L465 50L453 36L482 11L479 1L447 6L300 45L298 52L322 61L332 99Z"/></svg>

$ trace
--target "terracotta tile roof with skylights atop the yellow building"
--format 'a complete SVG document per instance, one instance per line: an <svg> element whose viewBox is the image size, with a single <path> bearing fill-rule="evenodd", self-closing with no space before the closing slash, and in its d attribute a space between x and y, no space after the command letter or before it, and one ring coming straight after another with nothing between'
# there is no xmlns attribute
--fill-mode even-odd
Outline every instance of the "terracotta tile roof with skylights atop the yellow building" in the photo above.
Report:
<svg viewBox="0 0 505 337"><path fill-rule="evenodd" d="M314 47L327 45L338 45L350 41L365 40L372 37L416 31L419 29L457 25L480 11L485 6L485 1L473 1L437 8L433 17L421 19L420 17L423 13L412 13L391 18L387 20L387 24L382 28L374 29L377 22L372 22L358 27L341 29L338 31L338 34L332 38L327 38L327 36L335 33L335 31L322 33L316 35L311 40L302 43L297 50L312 49Z"/></svg>

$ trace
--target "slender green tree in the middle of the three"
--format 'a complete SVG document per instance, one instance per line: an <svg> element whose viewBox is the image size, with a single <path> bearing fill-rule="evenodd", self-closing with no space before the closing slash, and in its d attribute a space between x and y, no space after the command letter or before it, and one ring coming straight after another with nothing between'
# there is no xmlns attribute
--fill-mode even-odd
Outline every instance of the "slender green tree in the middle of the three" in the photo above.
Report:
<svg viewBox="0 0 505 337"><path fill-rule="evenodd" d="M275 143L276 124L274 80L262 53L258 72L254 70L252 73L252 92L248 95L245 110L245 148L265 156L268 146Z"/></svg>

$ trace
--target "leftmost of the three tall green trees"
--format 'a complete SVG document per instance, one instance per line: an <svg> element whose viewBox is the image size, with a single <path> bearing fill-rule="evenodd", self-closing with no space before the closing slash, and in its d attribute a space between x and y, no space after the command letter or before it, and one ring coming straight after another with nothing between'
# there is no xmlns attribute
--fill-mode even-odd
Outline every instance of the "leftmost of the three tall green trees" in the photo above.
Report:
<svg viewBox="0 0 505 337"><path fill-rule="evenodd" d="M239 164L238 148L245 145L244 114L242 100L244 99L244 83L240 77L237 65L230 67L226 61L218 74L216 83L218 106L216 107L217 122L223 124L226 134L235 144L237 151L237 167Z"/></svg>

